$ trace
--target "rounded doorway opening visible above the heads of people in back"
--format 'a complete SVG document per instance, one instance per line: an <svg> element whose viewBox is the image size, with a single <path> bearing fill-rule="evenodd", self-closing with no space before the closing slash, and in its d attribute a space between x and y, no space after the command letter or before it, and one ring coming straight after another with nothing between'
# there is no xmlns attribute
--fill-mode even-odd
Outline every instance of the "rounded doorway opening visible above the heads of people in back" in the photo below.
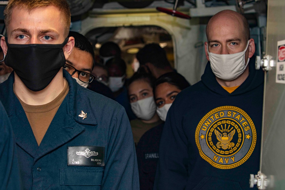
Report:
<svg viewBox="0 0 285 190"><path fill-rule="evenodd" d="M99 61L99 49L105 42L119 45L122 59L127 65L127 78L138 69L137 52L146 44L157 43L166 51L167 58L174 68L172 36L159 26L120 26L94 28L85 35L95 51L95 61Z"/></svg>

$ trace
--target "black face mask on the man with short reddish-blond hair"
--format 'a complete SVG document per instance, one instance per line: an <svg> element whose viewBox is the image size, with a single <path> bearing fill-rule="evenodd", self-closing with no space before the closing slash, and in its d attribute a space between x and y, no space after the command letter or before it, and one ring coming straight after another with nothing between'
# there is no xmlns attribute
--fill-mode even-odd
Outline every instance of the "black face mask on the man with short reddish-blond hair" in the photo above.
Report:
<svg viewBox="0 0 285 190"><path fill-rule="evenodd" d="M65 64L62 44L8 44L5 64L17 73L32 91L44 89Z"/></svg>

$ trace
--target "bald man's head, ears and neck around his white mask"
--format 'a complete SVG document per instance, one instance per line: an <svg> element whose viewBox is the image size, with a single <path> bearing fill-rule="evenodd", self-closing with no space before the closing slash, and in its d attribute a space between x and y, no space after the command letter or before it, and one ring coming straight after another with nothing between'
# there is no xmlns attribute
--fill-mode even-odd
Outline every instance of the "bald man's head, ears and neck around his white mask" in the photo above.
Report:
<svg viewBox="0 0 285 190"><path fill-rule="evenodd" d="M221 86L233 87L238 86L248 77L249 66L247 62L255 53L254 39L250 38L249 24L245 17L235 11L224 10L215 14L208 22L206 27L207 42L204 43L205 54L208 61L211 54L229 55L244 52L245 70L237 78L228 81L226 78L216 79ZM223 56L222 56L223 57ZM213 57L212 57L213 58ZM227 60L229 61L229 60ZM232 60L235 61L235 60ZM221 59L211 60L212 64L221 64ZM237 62L236 64L240 64ZM235 67L231 63L230 67Z"/></svg>

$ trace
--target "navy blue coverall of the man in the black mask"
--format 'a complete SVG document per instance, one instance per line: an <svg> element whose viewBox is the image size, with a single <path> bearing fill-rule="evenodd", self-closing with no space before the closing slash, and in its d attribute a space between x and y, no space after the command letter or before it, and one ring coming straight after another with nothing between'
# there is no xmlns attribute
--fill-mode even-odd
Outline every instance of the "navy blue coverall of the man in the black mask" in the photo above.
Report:
<svg viewBox="0 0 285 190"><path fill-rule="evenodd" d="M63 76L69 92L40 146L13 92L14 73L0 84L0 100L15 133L24 188L139 189L135 145L125 109L119 103L81 87L65 70ZM86 118L79 116L82 112ZM93 166L73 165L80 163L73 162L76 161L74 158L96 161L94 152L90 158L83 155L87 148L92 151L94 147L96 154L103 153L99 162L103 166L94 166L97 162L92 162ZM78 150L75 151L77 155L68 154L71 148Z"/></svg>

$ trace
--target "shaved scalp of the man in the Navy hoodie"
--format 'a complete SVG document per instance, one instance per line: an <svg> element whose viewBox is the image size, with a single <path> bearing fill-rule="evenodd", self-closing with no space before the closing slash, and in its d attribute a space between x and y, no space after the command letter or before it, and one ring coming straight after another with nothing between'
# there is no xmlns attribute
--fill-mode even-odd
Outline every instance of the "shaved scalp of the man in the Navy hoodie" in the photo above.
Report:
<svg viewBox="0 0 285 190"><path fill-rule="evenodd" d="M249 23L247 22L247 19L240 13L237 13L232 10L224 10L211 17L206 27L207 39L209 40L210 28L212 28L217 24L223 24L223 23L227 24L228 22L237 23L236 28L237 30L239 29L243 30L245 40L247 41L250 39Z"/></svg>

